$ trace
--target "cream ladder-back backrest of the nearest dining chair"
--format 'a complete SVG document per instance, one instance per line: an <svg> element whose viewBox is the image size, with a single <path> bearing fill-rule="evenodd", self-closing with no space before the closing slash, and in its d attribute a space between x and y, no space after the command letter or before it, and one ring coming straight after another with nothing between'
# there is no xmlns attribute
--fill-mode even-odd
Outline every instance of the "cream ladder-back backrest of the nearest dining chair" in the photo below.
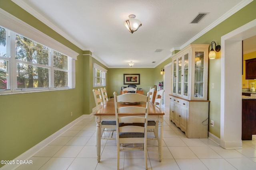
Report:
<svg viewBox="0 0 256 170"><path fill-rule="evenodd" d="M134 102L146 102L142 106L118 106L118 102L124 103L134 103ZM120 96L116 96L114 92L114 104L115 104L115 113L116 113L116 135L117 139L119 138L119 133L144 133L144 137L147 135L147 124L148 124L148 106L149 106L149 97L144 96L138 93L126 93ZM118 116L119 113L142 113L145 114L145 117L140 116ZM119 126L119 123L124 123L126 125ZM135 124L132 124L135 123ZM136 123L144 123L144 127L136 126Z"/></svg>

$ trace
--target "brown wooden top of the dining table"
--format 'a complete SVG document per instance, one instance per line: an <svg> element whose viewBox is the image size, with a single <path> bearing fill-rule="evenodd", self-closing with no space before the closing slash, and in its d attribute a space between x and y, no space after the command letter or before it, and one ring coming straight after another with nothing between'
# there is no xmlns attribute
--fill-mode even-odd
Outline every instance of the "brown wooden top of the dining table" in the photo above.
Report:
<svg viewBox="0 0 256 170"><path fill-rule="evenodd" d="M118 106L144 106L145 107L146 102L139 102L138 104L125 104L122 102L118 102ZM123 113L123 114L129 114L129 113ZM134 113L132 113L134 115ZM115 115L115 104L114 104L114 98L111 98L106 104L104 104L100 109L98 109L94 115ZM158 107L154 106L153 103L149 102L148 106L148 115L164 115L164 112L162 112Z"/></svg>

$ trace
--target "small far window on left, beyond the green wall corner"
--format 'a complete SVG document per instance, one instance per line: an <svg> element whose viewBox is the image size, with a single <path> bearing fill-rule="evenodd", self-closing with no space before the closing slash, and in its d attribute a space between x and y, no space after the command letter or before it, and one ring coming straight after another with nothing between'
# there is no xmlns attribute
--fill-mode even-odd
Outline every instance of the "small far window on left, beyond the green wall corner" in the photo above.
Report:
<svg viewBox="0 0 256 170"><path fill-rule="evenodd" d="M94 87L106 86L106 72L105 68L94 63Z"/></svg>

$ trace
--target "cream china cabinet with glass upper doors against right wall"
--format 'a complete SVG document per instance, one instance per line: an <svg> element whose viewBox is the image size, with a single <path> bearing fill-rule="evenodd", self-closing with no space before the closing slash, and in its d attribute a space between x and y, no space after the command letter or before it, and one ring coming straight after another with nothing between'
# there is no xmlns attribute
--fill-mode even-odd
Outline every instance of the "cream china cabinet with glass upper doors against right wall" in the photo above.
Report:
<svg viewBox="0 0 256 170"><path fill-rule="evenodd" d="M208 137L209 44L191 44L172 56L170 121L188 138Z"/></svg>

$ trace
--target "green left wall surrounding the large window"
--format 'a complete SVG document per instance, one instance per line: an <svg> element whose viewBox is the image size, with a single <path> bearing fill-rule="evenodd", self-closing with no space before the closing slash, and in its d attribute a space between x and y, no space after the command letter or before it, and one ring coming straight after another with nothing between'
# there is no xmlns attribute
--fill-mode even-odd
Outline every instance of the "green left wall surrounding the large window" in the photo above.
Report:
<svg viewBox="0 0 256 170"><path fill-rule="evenodd" d="M84 109L83 95L84 88L88 88L83 83L84 69L89 65L81 49L11 0L0 0L0 8L80 54L76 61L75 89L0 95L0 160L13 160L84 113L91 113Z"/></svg>

